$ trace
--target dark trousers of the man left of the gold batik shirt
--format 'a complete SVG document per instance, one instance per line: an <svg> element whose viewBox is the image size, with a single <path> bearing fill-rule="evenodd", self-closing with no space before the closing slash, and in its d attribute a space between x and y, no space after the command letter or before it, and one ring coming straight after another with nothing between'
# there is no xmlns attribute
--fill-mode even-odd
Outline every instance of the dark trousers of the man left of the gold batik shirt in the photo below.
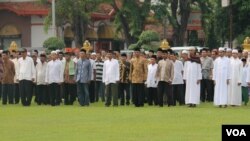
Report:
<svg viewBox="0 0 250 141"><path fill-rule="evenodd" d="M120 95L120 104L124 105L125 96L126 96L126 104L130 104L130 84L129 83L119 83L119 95Z"/></svg>

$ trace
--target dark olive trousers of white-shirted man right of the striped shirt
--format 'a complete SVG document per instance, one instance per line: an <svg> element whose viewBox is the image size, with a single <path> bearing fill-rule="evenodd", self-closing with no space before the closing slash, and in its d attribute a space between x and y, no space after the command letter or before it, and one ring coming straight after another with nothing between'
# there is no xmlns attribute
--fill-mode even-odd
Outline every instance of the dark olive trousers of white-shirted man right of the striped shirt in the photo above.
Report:
<svg viewBox="0 0 250 141"><path fill-rule="evenodd" d="M113 106L118 106L118 84L110 83L106 85L106 106L111 105L111 100L113 100Z"/></svg>

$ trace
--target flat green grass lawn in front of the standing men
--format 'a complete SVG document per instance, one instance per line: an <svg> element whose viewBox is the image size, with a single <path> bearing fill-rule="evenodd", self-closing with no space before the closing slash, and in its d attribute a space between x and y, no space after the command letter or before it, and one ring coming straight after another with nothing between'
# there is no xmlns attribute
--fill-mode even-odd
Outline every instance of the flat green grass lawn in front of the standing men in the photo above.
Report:
<svg viewBox="0 0 250 141"><path fill-rule="evenodd" d="M220 141L222 124L250 124L250 106L0 106L1 141Z"/></svg>

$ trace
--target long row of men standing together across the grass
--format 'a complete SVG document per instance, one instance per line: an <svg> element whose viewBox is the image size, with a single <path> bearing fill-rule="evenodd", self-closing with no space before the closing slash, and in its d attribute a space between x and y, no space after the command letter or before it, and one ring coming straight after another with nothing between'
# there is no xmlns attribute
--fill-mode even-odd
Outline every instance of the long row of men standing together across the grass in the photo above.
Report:
<svg viewBox="0 0 250 141"><path fill-rule="evenodd" d="M27 50L3 51L0 59L2 104L29 106L35 95L38 105L81 106L105 102L105 106L187 104L200 101L214 105L240 106L248 103L250 67L238 50L171 49L146 55L135 49L131 56L118 51L88 53L52 51L49 55Z"/></svg>

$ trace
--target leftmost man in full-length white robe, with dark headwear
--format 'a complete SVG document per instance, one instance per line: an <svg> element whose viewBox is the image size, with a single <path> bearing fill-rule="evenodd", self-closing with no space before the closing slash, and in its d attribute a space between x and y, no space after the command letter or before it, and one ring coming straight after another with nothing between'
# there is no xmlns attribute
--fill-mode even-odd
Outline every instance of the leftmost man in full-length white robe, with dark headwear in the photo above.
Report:
<svg viewBox="0 0 250 141"><path fill-rule="evenodd" d="M201 64L198 57L192 56L184 64L183 79L186 81L185 104L196 107L200 104Z"/></svg>

